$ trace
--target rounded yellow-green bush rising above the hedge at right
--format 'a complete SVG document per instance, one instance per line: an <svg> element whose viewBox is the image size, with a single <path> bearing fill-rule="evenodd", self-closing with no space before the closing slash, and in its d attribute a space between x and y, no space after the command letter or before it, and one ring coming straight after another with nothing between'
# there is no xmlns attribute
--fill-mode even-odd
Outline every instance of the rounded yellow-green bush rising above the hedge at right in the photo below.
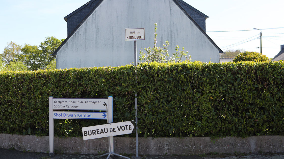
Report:
<svg viewBox="0 0 284 159"><path fill-rule="evenodd" d="M262 62L262 61L270 61L270 59L261 53L245 51L240 53L233 59L233 62L238 62L238 61Z"/></svg>

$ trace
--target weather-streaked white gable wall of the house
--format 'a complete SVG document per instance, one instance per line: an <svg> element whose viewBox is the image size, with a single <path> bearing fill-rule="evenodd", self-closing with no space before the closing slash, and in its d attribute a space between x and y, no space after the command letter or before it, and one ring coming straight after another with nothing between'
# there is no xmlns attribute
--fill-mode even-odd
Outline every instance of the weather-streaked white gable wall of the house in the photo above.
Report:
<svg viewBox="0 0 284 159"><path fill-rule="evenodd" d="M57 52L57 68L121 66L134 62L134 42L125 41L125 28L145 28L140 48L169 41L169 53L179 45L192 61L219 62L219 51L172 0L104 0Z"/></svg>

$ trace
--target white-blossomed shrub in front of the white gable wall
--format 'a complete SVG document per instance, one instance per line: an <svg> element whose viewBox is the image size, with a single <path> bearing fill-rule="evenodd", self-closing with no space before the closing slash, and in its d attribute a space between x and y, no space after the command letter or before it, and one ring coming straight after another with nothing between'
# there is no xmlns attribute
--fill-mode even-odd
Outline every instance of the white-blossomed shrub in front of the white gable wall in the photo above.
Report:
<svg viewBox="0 0 284 159"><path fill-rule="evenodd" d="M169 53L168 53L168 47L169 47L169 42L166 41L166 45L163 44L163 47L156 47L157 45L157 23L155 23L155 33L154 33L154 47L148 47L145 48L144 50L146 51L145 53L141 50L139 51L139 60L140 63L141 61L144 62L181 62L181 58L185 57L185 60L191 60L191 56L188 55L188 51L184 52L184 48L182 47L182 51L179 51L179 46L176 45L176 53L173 53L172 56L169 59Z"/></svg>

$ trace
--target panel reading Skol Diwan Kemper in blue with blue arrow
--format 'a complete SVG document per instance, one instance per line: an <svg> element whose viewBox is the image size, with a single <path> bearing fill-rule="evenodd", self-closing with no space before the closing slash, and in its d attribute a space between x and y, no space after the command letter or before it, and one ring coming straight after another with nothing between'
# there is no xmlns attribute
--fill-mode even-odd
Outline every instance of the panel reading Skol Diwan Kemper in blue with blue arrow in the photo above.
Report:
<svg viewBox="0 0 284 159"><path fill-rule="evenodd" d="M53 112L53 119L107 119L106 112Z"/></svg>

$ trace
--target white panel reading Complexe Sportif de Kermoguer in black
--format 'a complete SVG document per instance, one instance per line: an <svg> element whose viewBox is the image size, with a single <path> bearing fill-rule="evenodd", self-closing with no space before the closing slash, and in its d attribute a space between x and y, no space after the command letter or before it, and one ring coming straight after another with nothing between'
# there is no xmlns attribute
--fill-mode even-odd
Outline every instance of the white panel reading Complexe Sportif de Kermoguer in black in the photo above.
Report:
<svg viewBox="0 0 284 159"><path fill-rule="evenodd" d="M106 110L107 98L53 98L53 110Z"/></svg>

